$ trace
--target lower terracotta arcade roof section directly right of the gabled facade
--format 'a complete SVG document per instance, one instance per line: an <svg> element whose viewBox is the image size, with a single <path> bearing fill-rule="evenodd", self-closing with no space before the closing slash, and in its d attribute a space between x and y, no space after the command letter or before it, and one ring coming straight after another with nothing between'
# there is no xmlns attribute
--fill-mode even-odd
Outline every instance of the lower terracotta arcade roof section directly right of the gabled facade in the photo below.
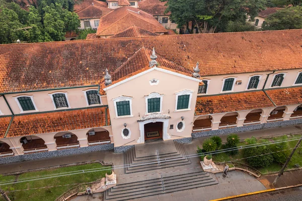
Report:
<svg viewBox="0 0 302 201"><path fill-rule="evenodd" d="M274 107L263 91L199 96L196 100L195 115Z"/></svg>

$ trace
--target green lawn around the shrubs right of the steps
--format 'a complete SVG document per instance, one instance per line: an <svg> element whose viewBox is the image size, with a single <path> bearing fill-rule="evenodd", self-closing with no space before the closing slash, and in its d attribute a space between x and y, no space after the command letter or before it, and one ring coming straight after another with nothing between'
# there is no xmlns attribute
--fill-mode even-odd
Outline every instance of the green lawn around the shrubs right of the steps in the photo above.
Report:
<svg viewBox="0 0 302 201"><path fill-rule="evenodd" d="M295 137L299 137L299 136L300 135L295 135ZM287 136L286 136L286 138L287 138ZM266 139L266 140L274 141L274 140L280 140L280 139L282 139L282 137L271 138L271 139ZM294 146L296 145L297 141L298 140L288 142L289 149L294 148ZM243 146L243 145L246 145L246 143L242 142L242 143L239 144L238 147ZM235 161L235 162L247 164L247 162L245 160L236 160L236 159L242 159L242 158L244 158L242 150L239 150L239 153L236 154L235 156L230 156L230 155L228 155L226 153L220 153L220 154L214 154L212 156L212 158L213 158L214 162ZM290 162L288 163L286 169L295 168L295 166L294 166L295 164L299 164L302 167L302 149L301 148L299 148L299 149L297 149L295 151L295 153L293 154L293 156L292 156ZM260 172L262 172L262 173L269 173L269 172L279 171L281 168L282 168L282 165L274 162L273 164L269 165L268 167L258 168L258 170Z"/></svg>

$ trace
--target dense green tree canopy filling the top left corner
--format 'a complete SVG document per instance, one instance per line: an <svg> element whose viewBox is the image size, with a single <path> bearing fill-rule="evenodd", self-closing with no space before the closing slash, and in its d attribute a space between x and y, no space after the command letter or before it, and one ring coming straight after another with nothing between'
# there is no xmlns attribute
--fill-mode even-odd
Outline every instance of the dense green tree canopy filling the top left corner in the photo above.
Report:
<svg viewBox="0 0 302 201"><path fill-rule="evenodd" d="M77 32L80 26L79 16L71 12L73 4L73 0L42 0L29 11L5 4L0 7L0 43L63 40L67 31Z"/></svg>

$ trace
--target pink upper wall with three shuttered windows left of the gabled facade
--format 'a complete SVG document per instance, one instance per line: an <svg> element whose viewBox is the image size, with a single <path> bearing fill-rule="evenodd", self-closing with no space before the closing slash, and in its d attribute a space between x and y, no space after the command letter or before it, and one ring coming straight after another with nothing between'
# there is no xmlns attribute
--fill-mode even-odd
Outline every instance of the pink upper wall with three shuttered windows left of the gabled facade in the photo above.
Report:
<svg viewBox="0 0 302 201"><path fill-rule="evenodd" d="M60 109L68 109L66 107L56 109L53 105L51 97L49 94L55 92L67 92L67 98L69 102L69 108L83 108L83 107L91 107L91 106L98 106L97 104L88 105L85 97L85 93L83 91L88 89L95 89L98 90L98 87L83 87L83 88L73 88L73 89L61 89L61 90L50 90L50 91L37 91L37 92L27 92L27 93L17 93L17 94L7 94L5 95L13 112L15 114L20 114L21 110L15 100L14 97L18 97L20 95L27 95L33 96L34 103L37 107L39 112L43 111L52 111L52 110L60 110ZM1 101L2 99L0 99ZM101 96L101 101L104 105L107 104L106 96ZM2 106L2 104L1 104ZM2 109L1 109L2 110ZM23 113L31 113L37 112L35 110L31 111L24 111Z"/></svg>

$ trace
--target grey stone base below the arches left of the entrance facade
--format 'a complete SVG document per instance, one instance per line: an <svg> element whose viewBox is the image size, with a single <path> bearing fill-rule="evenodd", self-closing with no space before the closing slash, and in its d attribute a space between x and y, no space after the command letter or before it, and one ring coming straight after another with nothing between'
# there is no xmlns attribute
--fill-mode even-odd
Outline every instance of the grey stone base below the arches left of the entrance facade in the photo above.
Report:
<svg viewBox="0 0 302 201"><path fill-rule="evenodd" d="M67 156L67 155L72 155L72 154L83 154L83 153L113 150L113 149L114 149L114 144L104 144L104 145L70 148L70 149L63 149L63 150L56 150L56 151L49 151L49 152L47 152L47 151L38 152L38 153L24 154L24 155L19 155L19 156L2 157L2 158L0 158L0 164L16 163L16 162L22 162L22 161L30 161L30 160L37 160L37 159L43 159L43 158Z"/></svg>

